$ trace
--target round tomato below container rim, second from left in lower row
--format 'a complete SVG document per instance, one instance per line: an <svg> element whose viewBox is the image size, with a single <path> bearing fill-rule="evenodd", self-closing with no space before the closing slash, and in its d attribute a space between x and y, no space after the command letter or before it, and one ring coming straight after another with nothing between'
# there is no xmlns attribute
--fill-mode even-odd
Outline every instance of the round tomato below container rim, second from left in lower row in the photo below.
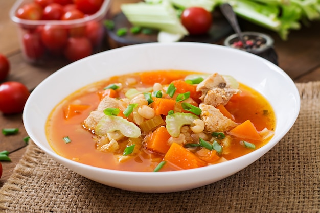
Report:
<svg viewBox="0 0 320 213"><path fill-rule="evenodd" d="M59 26L45 25L41 32L41 40L49 50L61 50L68 40L68 33Z"/></svg>

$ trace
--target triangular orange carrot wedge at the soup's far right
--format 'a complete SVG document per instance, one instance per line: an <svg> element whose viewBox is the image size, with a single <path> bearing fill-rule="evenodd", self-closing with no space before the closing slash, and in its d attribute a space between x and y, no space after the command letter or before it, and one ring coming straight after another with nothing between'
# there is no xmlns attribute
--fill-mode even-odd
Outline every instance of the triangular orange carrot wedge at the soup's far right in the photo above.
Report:
<svg viewBox="0 0 320 213"><path fill-rule="evenodd" d="M259 132L250 120L246 120L242 124L239 124L237 127L230 130L228 134L242 139L262 141Z"/></svg>

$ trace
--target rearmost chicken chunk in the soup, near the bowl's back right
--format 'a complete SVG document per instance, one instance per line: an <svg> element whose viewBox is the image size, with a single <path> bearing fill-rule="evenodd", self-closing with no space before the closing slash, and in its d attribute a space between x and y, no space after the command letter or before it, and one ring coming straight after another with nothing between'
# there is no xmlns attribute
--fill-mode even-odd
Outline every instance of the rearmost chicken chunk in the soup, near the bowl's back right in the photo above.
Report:
<svg viewBox="0 0 320 213"><path fill-rule="evenodd" d="M240 92L239 89L230 88L225 79L217 73L199 83L197 91L202 93L200 100L203 104L209 104L214 107L220 104L225 105L235 93Z"/></svg>

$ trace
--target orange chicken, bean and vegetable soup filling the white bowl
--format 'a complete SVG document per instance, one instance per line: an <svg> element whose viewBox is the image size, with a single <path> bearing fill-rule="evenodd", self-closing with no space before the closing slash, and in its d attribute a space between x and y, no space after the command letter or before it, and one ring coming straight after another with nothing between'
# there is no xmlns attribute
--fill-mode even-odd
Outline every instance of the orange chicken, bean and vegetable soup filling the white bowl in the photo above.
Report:
<svg viewBox="0 0 320 213"><path fill-rule="evenodd" d="M231 76L156 70L113 76L62 100L45 127L68 159L124 171L174 171L231 160L275 131L268 101Z"/></svg>

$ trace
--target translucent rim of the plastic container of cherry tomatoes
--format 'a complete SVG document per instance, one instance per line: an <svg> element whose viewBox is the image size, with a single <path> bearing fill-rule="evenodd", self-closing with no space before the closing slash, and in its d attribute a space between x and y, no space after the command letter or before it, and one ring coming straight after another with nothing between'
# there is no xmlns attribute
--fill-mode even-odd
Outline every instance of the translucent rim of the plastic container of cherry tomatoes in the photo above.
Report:
<svg viewBox="0 0 320 213"><path fill-rule="evenodd" d="M85 16L83 18L74 19L74 20L28 20L28 19L21 19L15 16L16 11L20 6L24 4L24 2L30 2L29 0L17 0L12 8L9 11L10 18L13 22L19 24L19 25L25 25L25 26L41 26L41 25L59 25L59 26L66 26L70 27L73 25L82 25L84 22L96 20L96 19L102 19L108 11L108 8L110 7L110 3L112 0L104 0L100 9L91 15Z"/></svg>

